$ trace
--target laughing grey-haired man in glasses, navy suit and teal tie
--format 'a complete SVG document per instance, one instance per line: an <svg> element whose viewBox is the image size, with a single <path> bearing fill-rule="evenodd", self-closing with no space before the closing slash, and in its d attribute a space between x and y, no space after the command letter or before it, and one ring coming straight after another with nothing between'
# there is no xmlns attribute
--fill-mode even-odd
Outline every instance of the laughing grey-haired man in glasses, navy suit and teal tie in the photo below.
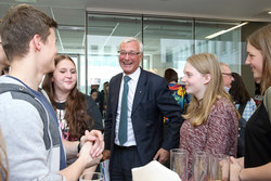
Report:
<svg viewBox="0 0 271 181"><path fill-rule="evenodd" d="M181 108L164 78L139 67L142 52L138 39L124 39L119 46L124 73L109 82L103 155L111 158L111 181L131 181L131 168L153 159L165 163L179 143ZM170 120L165 140L163 116Z"/></svg>

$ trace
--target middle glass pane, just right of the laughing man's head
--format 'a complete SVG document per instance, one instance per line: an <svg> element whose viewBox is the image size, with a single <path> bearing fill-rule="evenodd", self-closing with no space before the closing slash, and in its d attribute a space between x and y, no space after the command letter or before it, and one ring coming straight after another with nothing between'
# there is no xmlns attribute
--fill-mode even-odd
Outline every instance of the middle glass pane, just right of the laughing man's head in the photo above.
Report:
<svg viewBox="0 0 271 181"><path fill-rule="evenodd" d="M143 18L144 69L164 76L166 68L175 68L179 77L188 56L192 54L192 21Z"/></svg>

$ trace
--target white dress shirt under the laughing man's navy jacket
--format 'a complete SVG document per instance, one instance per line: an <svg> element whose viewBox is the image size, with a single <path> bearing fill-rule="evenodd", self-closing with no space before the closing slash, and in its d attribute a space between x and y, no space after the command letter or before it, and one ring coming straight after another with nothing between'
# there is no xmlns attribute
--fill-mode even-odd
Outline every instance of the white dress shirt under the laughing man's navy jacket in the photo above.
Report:
<svg viewBox="0 0 271 181"><path fill-rule="evenodd" d="M122 146L132 146L137 145L133 128L132 128L132 120L131 120L131 113L132 113L132 104L133 104L133 98L136 94L136 89L139 81L141 69L138 67L138 69L128 75L131 79L128 81L129 91L128 91L128 131L127 131L127 142ZM124 74L124 76L126 76ZM120 145L118 141L118 129L119 129L119 118L120 118L120 109L121 109L121 99L122 99L122 91L124 91L124 76L121 78L120 89L119 89L119 98L118 98L118 108L117 108L117 117L116 117L116 137L115 137L115 144Z"/></svg>

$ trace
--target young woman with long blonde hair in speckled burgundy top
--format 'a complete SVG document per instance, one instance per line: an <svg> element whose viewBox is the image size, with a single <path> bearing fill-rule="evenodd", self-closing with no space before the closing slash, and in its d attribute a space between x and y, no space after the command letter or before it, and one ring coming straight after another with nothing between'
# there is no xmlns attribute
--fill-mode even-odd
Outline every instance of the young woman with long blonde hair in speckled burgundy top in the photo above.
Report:
<svg viewBox="0 0 271 181"><path fill-rule="evenodd" d="M190 56L181 81L192 95L180 129L180 148L190 153L190 179L193 152L236 155L238 114L223 88L219 62L214 54Z"/></svg>

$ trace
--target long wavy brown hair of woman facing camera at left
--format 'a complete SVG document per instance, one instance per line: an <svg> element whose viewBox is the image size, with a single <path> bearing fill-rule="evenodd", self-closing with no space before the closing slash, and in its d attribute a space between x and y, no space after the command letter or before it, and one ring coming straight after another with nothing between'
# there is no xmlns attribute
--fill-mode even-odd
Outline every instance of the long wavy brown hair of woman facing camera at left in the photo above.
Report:
<svg viewBox="0 0 271 181"><path fill-rule="evenodd" d="M74 63L74 61L67 55L56 55L54 59L55 66L63 60L69 60L70 62ZM51 81L53 73L49 73L46 75L42 82L42 89L46 90L54 109L56 109L55 107L56 102L54 101L54 82ZM68 140L78 140L81 135L85 134L85 130L91 129L89 126L90 122L91 126L93 125L93 119L87 114L86 95L77 89L77 83L68 94L65 104L64 118L69 127Z"/></svg>

